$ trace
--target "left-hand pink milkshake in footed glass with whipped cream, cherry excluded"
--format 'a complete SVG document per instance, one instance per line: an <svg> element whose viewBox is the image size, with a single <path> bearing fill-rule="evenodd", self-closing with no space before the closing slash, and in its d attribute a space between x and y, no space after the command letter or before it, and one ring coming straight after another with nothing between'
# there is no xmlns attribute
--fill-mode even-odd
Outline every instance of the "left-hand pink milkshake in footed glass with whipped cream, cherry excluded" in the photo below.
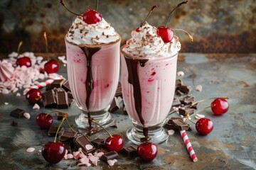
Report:
<svg viewBox="0 0 256 170"><path fill-rule="evenodd" d="M119 81L120 40L104 19L89 25L80 16L65 36L70 90L81 110L75 123L80 128L91 126L90 118L104 127L115 123L108 109Z"/></svg>

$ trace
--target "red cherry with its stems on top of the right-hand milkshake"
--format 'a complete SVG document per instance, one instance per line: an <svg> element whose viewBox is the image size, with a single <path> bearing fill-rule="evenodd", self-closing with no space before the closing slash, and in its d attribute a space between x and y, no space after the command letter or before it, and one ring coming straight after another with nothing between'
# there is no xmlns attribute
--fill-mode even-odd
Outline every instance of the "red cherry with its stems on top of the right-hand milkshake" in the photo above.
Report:
<svg viewBox="0 0 256 170"><path fill-rule="evenodd" d="M186 4L187 2L188 2L188 1L183 1L183 2L181 2L180 4L178 4L178 5L171 11L171 13L173 13L174 10L176 10L176 8L179 8L181 5ZM156 30L156 34L161 37L161 39L164 41L164 43L171 42L171 40L174 38L174 30L167 27L168 22L169 22L169 19L170 19L170 17L171 17L171 13L169 13L169 16L168 16L168 18L167 18L166 26L159 26L159 28L157 28L157 30ZM181 30L181 29L175 29L175 30ZM188 38L190 38L190 39L193 41L193 37L192 37L188 32L186 32L186 30L181 30L181 31L183 31L183 32L185 32L186 34L188 34Z"/></svg>

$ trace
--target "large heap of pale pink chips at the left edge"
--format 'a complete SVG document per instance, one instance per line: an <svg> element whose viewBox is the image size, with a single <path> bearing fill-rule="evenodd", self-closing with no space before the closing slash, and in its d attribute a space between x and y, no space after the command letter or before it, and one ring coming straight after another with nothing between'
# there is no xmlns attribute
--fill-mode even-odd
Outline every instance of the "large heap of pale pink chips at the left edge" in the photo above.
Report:
<svg viewBox="0 0 256 170"><path fill-rule="evenodd" d="M16 66L16 60L24 56L31 59L31 67ZM62 58L62 60L64 59ZM46 62L46 60L43 61L43 57L36 57L33 52L24 52L21 55L12 52L9 58L0 60L0 94L9 94L18 89L28 89L38 83L37 80L62 79L63 77L56 73L41 73Z"/></svg>

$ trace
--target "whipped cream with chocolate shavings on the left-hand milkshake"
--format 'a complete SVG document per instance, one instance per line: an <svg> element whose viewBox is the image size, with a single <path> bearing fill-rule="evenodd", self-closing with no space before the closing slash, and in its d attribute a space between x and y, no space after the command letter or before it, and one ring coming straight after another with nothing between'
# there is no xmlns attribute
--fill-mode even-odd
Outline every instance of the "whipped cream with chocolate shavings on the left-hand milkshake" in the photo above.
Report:
<svg viewBox="0 0 256 170"><path fill-rule="evenodd" d="M98 23L87 24L82 21L82 16L75 18L66 35L66 40L76 45L100 45L115 42L119 39L119 34L104 18Z"/></svg>

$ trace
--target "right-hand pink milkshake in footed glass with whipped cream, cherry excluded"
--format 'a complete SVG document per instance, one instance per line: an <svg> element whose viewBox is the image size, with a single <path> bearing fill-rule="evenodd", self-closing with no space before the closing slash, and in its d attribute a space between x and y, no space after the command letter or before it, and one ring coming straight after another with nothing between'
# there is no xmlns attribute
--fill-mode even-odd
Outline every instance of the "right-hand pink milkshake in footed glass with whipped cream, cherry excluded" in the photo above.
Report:
<svg viewBox="0 0 256 170"><path fill-rule="evenodd" d="M176 36L164 43L148 23L132 31L132 38L121 48L124 105L134 124L127 137L132 142L159 143L168 139L162 125L174 99L180 49Z"/></svg>

